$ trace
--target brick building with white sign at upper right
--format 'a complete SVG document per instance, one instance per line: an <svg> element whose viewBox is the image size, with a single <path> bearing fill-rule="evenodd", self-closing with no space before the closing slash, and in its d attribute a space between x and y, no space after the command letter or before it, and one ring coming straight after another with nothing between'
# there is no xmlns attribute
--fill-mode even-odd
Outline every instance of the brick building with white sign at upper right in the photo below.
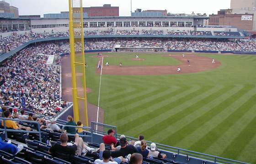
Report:
<svg viewBox="0 0 256 164"><path fill-rule="evenodd" d="M211 26L235 26L246 31L253 31L254 14L233 14L233 11L220 10L217 15L209 15Z"/></svg>

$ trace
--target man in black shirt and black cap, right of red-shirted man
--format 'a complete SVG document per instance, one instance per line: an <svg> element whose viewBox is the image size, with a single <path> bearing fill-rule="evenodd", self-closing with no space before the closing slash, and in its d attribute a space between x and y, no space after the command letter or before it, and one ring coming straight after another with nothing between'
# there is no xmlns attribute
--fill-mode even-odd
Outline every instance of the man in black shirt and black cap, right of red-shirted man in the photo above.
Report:
<svg viewBox="0 0 256 164"><path fill-rule="evenodd" d="M125 158L128 154L138 153L137 149L133 145L128 145L127 144L127 141L126 141L125 137L121 138L119 143L120 143L121 149L111 152L111 156L113 158L117 158L117 157L120 157L120 156Z"/></svg>

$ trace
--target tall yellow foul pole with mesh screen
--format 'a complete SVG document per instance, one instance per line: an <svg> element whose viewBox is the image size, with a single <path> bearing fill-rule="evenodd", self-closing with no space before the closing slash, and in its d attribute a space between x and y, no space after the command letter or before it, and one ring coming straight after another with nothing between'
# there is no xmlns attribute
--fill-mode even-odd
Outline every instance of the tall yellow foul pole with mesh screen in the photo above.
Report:
<svg viewBox="0 0 256 164"><path fill-rule="evenodd" d="M69 43L74 118L88 126L82 0L69 0Z"/></svg>

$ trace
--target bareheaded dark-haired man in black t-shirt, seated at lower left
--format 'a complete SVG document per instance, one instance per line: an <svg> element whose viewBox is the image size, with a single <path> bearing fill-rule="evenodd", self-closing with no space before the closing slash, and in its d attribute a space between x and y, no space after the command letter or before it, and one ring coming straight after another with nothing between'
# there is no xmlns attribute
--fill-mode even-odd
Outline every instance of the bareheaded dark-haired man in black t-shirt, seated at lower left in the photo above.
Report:
<svg viewBox="0 0 256 164"><path fill-rule="evenodd" d="M79 135L75 134L75 144L73 144L72 146L68 146L68 135L66 133L62 133L60 135L61 144L54 144L49 149L48 153L52 154L54 157L57 157L59 159L70 161L72 157L75 155L75 151L77 150L77 146L79 144L78 138Z"/></svg>

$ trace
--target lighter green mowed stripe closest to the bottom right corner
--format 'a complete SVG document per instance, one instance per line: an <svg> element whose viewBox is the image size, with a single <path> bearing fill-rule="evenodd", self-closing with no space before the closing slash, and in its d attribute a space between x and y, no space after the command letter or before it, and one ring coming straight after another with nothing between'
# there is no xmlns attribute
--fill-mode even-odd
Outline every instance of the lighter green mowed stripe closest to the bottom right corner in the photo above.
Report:
<svg viewBox="0 0 256 164"><path fill-rule="evenodd" d="M239 133L241 132L250 122L256 117L255 108L252 107L243 117L236 121L217 141L215 141L206 152L211 154L222 154L225 149L229 148L232 141L234 141ZM229 139L227 139L229 138ZM238 140L237 140L238 141ZM221 145L221 147L219 146Z"/></svg>

